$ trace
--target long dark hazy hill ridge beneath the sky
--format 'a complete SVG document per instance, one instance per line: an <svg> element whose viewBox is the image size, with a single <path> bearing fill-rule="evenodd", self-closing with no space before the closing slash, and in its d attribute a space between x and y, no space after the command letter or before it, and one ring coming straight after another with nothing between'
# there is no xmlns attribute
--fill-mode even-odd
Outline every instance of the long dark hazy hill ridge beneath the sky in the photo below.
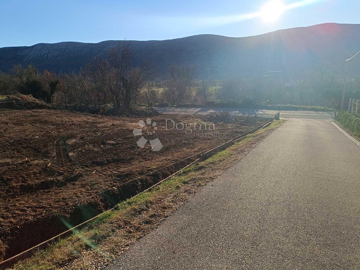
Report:
<svg viewBox="0 0 360 270"><path fill-rule="evenodd" d="M94 57L105 57L118 42L60 42L0 48L0 70L35 64L40 70L68 72ZM320 61L344 65L360 50L360 24L325 23L278 30L251 37L197 35L172 40L131 41L133 63L143 59L158 75L173 64L246 69L311 69Z"/></svg>

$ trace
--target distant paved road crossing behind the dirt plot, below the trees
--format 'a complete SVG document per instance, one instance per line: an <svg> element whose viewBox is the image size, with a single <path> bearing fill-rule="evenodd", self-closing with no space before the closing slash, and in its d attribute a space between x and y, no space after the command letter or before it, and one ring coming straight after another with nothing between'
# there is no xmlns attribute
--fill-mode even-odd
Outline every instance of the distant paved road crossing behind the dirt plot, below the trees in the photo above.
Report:
<svg viewBox="0 0 360 270"><path fill-rule="evenodd" d="M155 107L160 113L169 114L201 114L210 112L228 111L233 115L247 115L257 117L274 117L278 111L256 109L229 109L229 108L180 108L180 107ZM334 112L315 111L280 111L282 118L312 118L312 119L335 119Z"/></svg>

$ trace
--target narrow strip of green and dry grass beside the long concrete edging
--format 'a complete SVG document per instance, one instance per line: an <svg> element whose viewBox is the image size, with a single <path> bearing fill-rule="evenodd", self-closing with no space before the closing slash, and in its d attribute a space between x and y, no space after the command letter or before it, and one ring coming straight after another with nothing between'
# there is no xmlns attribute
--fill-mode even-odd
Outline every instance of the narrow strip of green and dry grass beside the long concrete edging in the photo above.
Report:
<svg viewBox="0 0 360 270"><path fill-rule="evenodd" d="M181 201L179 198L184 197L182 200L185 201L186 195L184 194L194 193L196 188L216 178L217 174L214 173L214 170L223 171L226 168L225 165L229 167L239 160L239 158L237 159L239 150L251 143L256 136L263 134L267 130L275 129L283 123L284 120L275 120L270 126L258 131L256 134L249 135L243 140L231 145L229 148L214 154L205 161L195 163L185 168L182 172L162 182L149 192L140 193L135 198L130 198L119 203L113 211L103 213L103 215L100 215L82 230L75 231L71 236L54 242L47 249L36 252L27 260L18 262L13 269L58 269L59 266L61 267L67 262L80 258L82 256L81 252L85 249L91 248L102 253L101 248L98 248L99 245L104 244L109 236L114 235L114 233L121 230L121 228L131 231L129 224L131 225L132 223L134 223L135 232L125 234L124 239L132 239L131 235L133 235L134 240L143 237L149 233L155 225L150 224L146 227L147 225L144 225L146 224L146 219L139 223L136 223L134 220L144 218L143 216L145 216L144 213L146 212L150 212L149 216L151 217L153 214L151 214L150 209L156 206L158 206L156 212L174 211L176 207L165 207L167 205L164 203L166 199L173 197ZM163 216L160 216L160 220L165 217L166 214L163 214ZM145 228L139 229L139 224L142 224ZM144 232L141 232L141 230ZM123 241L119 243L115 245L117 251L121 250ZM106 246L107 244L108 243L105 243L104 245Z"/></svg>

